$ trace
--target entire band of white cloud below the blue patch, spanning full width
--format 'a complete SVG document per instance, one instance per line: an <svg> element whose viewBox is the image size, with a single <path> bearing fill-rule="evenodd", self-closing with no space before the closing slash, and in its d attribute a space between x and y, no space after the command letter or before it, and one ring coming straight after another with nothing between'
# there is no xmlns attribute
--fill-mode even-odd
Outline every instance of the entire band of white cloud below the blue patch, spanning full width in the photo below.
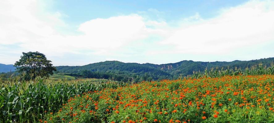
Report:
<svg viewBox="0 0 274 123"><path fill-rule="evenodd" d="M136 59L151 58L151 55L159 55L155 59L158 61L164 55L170 54L233 56L231 51L235 49L238 51L242 47L252 48L274 41L273 1L250 1L224 8L217 17L209 19L196 13L191 17L172 21L179 25L177 27L170 26L174 24L160 18L159 15L163 12L149 9L148 12L155 13L157 19L146 18L140 14L97 18L80 24L76 30L80 34L70 35L58 30L70 26L61 19L67 15L47 12L40 7L40 3L35 0L0 1L0 52L4 51L1 45L19 45L20 49L10 49L8 52L19 54L40 51L55 58L61 58L64 54L121 60L136 56L124 61L138 62ZM150 42L151 37L158 39ZM138 48L136 51L129 51L133 45ZM1 53L0 56L0 63L4 63L5 58L8 61L19 58Z"/></svg>

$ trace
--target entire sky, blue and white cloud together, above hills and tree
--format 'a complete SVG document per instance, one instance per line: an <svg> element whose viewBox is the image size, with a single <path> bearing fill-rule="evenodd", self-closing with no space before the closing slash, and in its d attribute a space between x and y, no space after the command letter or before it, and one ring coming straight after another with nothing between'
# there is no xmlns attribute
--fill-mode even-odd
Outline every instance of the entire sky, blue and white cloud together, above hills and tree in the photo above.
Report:
<svg viewBox="0 0 274 123"><path fill-rule="evenodd" d="M0 0L0 63L53 65L274 57L271 0Z"/></svg>

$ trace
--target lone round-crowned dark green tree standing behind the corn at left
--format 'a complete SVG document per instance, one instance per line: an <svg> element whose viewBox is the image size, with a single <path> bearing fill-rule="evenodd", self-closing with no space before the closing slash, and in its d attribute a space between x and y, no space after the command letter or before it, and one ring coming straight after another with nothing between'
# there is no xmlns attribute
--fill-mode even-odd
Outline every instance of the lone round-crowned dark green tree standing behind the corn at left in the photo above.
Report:
<svg viewBox="0 0 274 123"><path fill-rule="evenodd" d="M20 57L19 61L15 62L14 66L16 71L22 73L26 72L31 79L37 76L49 77L49 74L53 74L56 68L52 66L50 60L47 60L46 56L39 52L28 52L24 53Z"/></svg>

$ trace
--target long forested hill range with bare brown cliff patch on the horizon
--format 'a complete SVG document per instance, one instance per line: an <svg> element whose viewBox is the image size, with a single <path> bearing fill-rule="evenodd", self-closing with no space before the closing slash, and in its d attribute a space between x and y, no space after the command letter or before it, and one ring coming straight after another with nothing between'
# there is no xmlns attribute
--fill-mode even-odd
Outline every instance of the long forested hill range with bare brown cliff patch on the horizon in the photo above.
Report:
<svg viewBox="0 0 274 123"><path fill-rule="evenodd" d="M105 61L84 66L57 66L57 71L61 73L73 73L75 76L95 77L95 78L113 78L123 79L140 77L141 79L172 79L182 76L187 76L193 71L204 71L206 68L251 68L253 65L262 63L270 66L274 62L274 58L263 58L251 61L233 61L233 62L194 62L181 61L169 64L138 64L138 63L123 63L119 61ZM143 77L143 78L141 78Z"/></svg>

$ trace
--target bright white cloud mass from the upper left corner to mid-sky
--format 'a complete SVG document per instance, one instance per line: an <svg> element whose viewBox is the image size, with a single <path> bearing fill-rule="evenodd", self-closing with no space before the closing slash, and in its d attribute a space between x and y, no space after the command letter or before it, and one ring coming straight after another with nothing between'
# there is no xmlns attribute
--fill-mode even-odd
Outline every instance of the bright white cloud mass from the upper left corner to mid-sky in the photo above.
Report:
<svg viewBox="0 0 274 123"><path fill-rule="evenodd" d="M68 26L61 20L67 15L45 12L40 4L35 0L0 2L0 45L18 43L25 52L37 50L52 56L83 54L83 50L102 55L160 31L147 28L143 17L131 14L93 19L80 24L82 34L64 35L56 28Z"/></svg>

